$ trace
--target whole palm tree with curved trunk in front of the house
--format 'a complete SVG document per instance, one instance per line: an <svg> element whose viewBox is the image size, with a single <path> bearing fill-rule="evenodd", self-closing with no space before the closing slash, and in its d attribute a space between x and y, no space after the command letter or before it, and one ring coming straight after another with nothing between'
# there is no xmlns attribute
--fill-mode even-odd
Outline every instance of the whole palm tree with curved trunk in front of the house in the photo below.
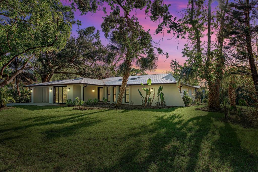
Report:
<svg viewBox="0 0 258 172"><path fill-rule="evenodd" d="M149 36L149 33L146 33L145 36ZM157 68L158 57L154 53L154 48L151 47L151 42L132 31L112 32L109 42L105 61L110 66L111 73L123 77L116 102L116 106L121 106L133 64L141 70L154 71Z"/></svg>

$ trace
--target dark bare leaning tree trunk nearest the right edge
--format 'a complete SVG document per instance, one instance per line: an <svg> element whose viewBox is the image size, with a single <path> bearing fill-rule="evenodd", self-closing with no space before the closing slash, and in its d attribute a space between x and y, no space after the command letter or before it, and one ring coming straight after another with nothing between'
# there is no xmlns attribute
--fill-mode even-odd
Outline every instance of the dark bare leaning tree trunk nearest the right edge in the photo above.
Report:
<svg viewBox="0 0 258 172"><path fill-rule="evenodd" d="M250 7L249 7L249 0L246 0L247 9L245 13L245 35L246 35L246 47L248 52L248 61L252 72L252 77L254 81L254 86L256 93L258 94L258 74L257 69L255 66L254 56L253 56L253 48L252 48L252 39L251 39L251 32L250 32Z"/></svg>

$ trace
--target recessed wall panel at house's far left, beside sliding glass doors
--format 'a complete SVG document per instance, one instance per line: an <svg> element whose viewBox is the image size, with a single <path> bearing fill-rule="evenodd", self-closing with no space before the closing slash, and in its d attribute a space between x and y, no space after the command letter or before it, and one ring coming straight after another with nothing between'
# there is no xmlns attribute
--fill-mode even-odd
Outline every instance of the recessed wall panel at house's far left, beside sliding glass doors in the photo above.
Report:
<svg viewBox="0 0 258 172"><path fill-rule="evenodd" d="M32 102L48 103L49 102L49 87L34 87L32 89Z"/></svg>

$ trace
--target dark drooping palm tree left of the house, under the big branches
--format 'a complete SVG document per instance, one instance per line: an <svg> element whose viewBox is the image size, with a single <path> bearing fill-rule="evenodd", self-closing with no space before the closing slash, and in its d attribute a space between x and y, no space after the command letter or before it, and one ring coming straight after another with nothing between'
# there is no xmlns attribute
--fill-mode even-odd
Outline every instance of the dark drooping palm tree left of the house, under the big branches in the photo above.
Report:
<svg viewBox="0 0 258 172"><path fill-rule="evenodd" d="M25 61L22 58L16 57L12 63L10 63L10 69L12 70L12 73L19 70L23 65ZM32 84L33 82L36 82L37 78L33 74L33 71L28 68L23 70L21 73L19 73L16 77L13 83L16 84L16 89L18 91L19 96L21 96L21 92L19 89L19 83L22 82L25 85Z"/></svg>

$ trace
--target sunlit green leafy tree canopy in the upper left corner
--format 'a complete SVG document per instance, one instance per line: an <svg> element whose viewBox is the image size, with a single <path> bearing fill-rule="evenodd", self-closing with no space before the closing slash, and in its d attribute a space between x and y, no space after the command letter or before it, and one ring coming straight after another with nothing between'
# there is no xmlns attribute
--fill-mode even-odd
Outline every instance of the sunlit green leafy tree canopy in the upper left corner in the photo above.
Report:
<svg viewBox="0 0 258 172"><path fill-rule="evenodd" d="M30 68L30 59L41 51L62 49L70 36L74 13L59 0L12 1L0 3L1 87L10 83L23 69ZM78 22L77 22L78 23ZM79 24L79 23L78 23ZM26 63L9 75L9 65L16 58Z"/></svg>

